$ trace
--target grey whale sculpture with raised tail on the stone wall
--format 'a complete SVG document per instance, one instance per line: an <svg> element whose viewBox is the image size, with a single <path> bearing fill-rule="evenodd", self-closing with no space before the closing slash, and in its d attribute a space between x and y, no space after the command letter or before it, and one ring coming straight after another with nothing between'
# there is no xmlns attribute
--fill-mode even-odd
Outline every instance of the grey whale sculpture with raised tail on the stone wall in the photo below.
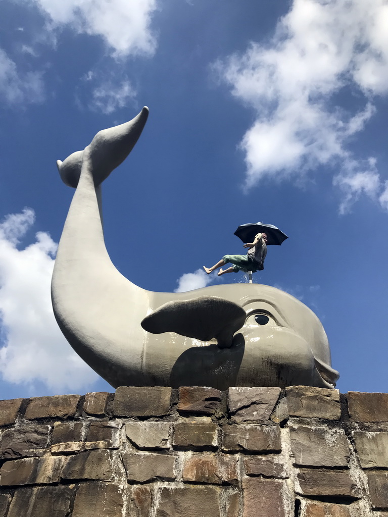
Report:
<svg viewBox="0 0 388 517"><path fill-rule="evenodd" d="M293 296L248 283L156 293L114 267L103 238L101 183L136 144L147 116L143 108L57 162L64 183L76 188L52 277L54 315L65 338L114 388L332 388L339 374L326 334Z"/></svg>

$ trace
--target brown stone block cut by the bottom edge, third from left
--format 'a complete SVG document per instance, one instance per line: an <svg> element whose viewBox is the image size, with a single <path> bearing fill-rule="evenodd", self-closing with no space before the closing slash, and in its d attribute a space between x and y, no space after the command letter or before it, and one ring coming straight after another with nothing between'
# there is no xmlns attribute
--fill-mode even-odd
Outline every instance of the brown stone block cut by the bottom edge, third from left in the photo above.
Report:
<svg viewBox="0 0 388 517"><path fill-rule="evenodd" d="M123 489L112 483L81 484L72 517L122 517ZM132 517L132 516L131 516Z"/></svg>

